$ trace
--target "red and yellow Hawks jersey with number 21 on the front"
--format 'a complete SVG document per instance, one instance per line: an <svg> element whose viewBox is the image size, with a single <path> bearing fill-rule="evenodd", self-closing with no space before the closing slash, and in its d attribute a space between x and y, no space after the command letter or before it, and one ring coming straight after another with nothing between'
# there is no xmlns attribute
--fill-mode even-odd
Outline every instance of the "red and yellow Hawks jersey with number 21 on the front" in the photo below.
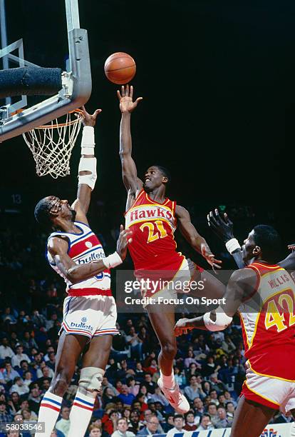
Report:
<svg viewBox="0 0 295 437"><path fill-rule="evenodd" d="M125 227L133 231L129 251L135 271L178 271L185 259L176 251L174 233L176 202L166 199L163 204L152 201L141 190L135 203L125 212Z"/></svg>

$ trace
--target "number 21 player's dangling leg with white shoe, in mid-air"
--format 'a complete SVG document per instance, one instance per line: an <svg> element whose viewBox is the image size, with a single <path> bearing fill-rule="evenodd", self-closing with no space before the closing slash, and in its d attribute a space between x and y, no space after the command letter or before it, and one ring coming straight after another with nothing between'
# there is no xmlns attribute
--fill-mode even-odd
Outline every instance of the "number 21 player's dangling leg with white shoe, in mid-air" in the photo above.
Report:
<svg viewBox="0 0 295 437"><path fill-rule="evenodd" d="M175 383L173 373L173 360L177 352L176 338L174 335L175 308L172 305L150 305L147 307L150 322L159 340L161 351L158 357L160 379L158 385L165 394L167 401L179 413L186 413L190 404L180 392Z"/></svg>

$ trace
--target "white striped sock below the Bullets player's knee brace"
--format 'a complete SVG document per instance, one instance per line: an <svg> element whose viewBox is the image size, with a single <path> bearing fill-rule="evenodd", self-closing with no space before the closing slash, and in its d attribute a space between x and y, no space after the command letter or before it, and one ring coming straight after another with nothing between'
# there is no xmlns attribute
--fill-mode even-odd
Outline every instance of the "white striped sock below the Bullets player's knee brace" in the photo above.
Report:
<svg viewBox="0 0 295 437"><path fill-rule="evenodd" d="M77 391L70 413L70 430L68 437L84 437L93 413L96 393L85 395Z"/></svg>

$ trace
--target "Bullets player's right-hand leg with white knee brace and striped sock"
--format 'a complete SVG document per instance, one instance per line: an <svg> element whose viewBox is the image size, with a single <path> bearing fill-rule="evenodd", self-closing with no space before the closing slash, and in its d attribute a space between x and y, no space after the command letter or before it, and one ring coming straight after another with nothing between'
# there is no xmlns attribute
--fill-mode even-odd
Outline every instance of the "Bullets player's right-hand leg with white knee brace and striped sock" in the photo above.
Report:
<svg viewBox="0 0 295 437"><path fill-rule="evenodd" d="M68 437L82 437L86 433L93 413L95 398L100 390L101 381L103 381L112 340L112 335L93 337L86 348L78 391L71 408L71 426Z"/></svg>

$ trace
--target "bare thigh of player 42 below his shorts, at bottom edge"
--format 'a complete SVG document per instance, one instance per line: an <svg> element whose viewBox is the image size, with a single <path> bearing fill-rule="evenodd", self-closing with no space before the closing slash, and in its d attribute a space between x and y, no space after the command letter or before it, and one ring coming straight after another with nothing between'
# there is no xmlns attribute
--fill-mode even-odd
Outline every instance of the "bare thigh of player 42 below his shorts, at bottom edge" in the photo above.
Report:
<svg viewBox="0 0 295 437"><path fill-rule="evenodd" d="M231 437L260 437L274 413L274 408L249 401L242 395L234 412Z"/></svg>

